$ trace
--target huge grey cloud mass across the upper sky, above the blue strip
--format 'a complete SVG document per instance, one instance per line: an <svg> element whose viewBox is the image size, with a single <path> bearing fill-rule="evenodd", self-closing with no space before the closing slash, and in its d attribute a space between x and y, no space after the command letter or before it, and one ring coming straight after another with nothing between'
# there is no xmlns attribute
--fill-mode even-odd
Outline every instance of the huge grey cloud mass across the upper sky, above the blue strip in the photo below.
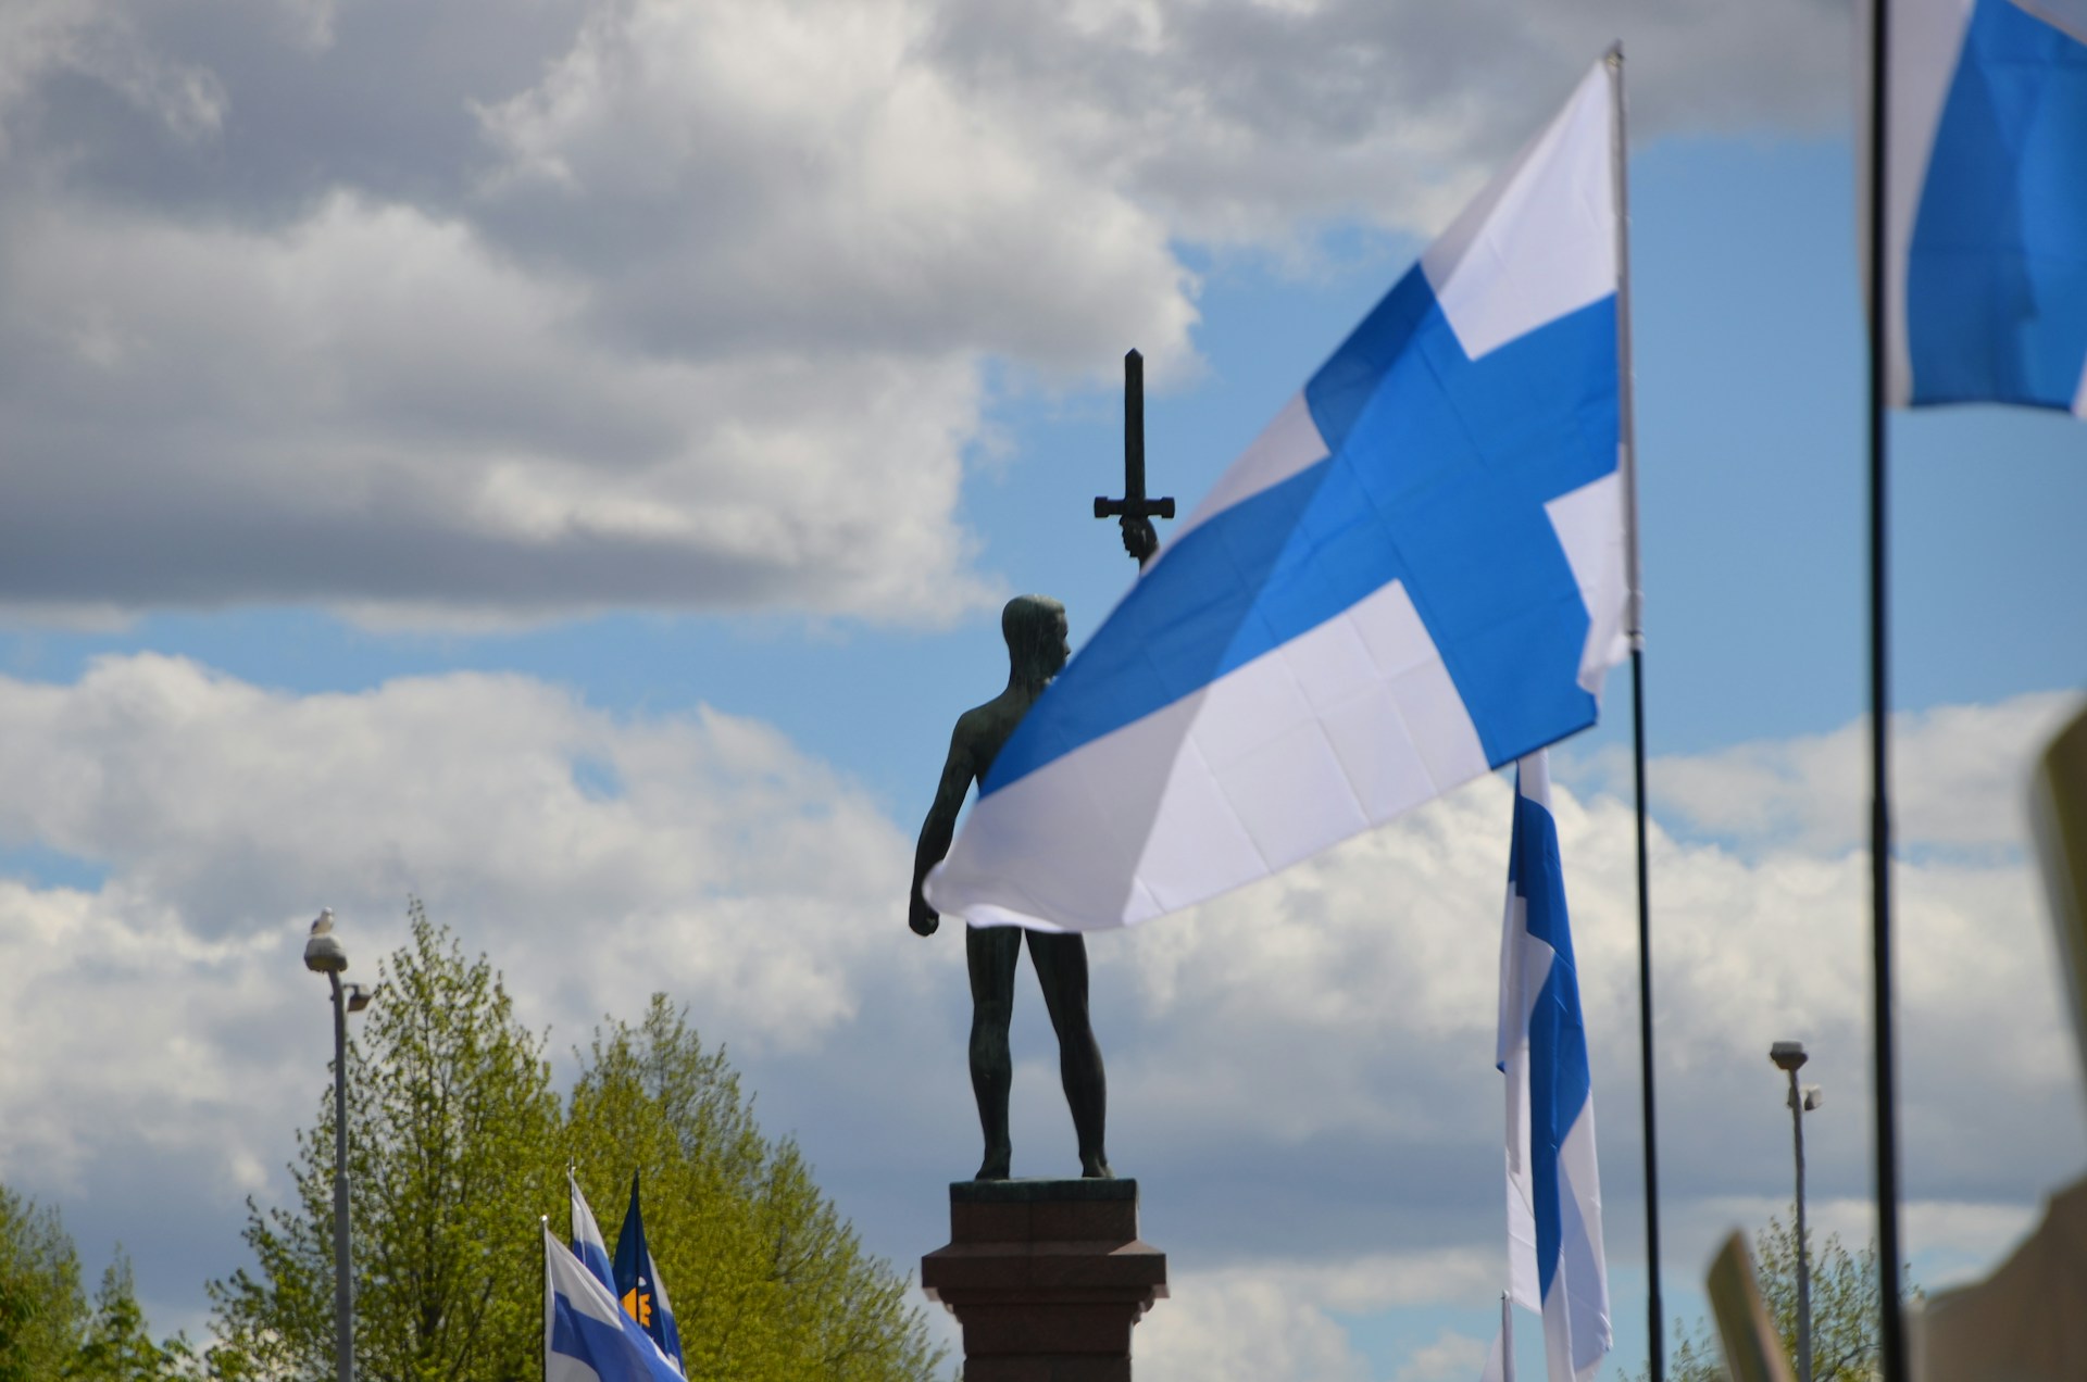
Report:
<svg viewBox="0 0 2087 1382"><path fill-rule="evenodd" d="M1622 33L1822 119L1818 0L371 0L0 19L0 582L42 612L941 620L993 378L1194 367L1185 244L1432 230ZM380 96L378 96L380 94ZM1830 100L1828 100L1830 98Z"/></svg>

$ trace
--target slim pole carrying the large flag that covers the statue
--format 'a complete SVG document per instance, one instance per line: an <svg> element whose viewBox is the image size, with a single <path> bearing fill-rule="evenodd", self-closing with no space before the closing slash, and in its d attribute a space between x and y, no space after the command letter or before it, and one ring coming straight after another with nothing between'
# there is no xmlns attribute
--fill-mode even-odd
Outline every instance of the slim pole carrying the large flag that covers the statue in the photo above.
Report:
<svg viewBox="0 0 2087 1382"><path fill-rule="evenodd" d="M1638 580L1638 428L1630 359L1630 140L1624 134L1624 42L1609 46L1609 121L1615 159L1615 353L1617 472L1624 480L1624 582L1630 591L1630 764L1638 806L1638 1090L1645 1123L1645 1357L1651 1382L1665 1380L1659 1296L1659 1119L1653 1098L1653 902L1645 831L1645 587Z"/></svg>

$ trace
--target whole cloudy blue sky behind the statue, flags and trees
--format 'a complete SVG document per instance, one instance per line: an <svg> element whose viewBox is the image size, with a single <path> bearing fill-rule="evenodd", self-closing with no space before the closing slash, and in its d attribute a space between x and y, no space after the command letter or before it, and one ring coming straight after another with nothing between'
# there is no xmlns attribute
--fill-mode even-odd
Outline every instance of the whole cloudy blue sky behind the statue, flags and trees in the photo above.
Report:
<svg viewBox="0 0 2087 1382"><path fill-rule="evenodd" d="M870 1250L968 1175L904 925L1000 603L1131 578L1121 355L1190 507L1628 54L1663 1294L1872 1234L1862 317L1834 0L0 6L0 1182L159 1330L288 1196L409 898L561 1073L664 990ZM1895 418L1903 1232L1989 1269L2087 1152L2024 845L2087 683L2087 432ZM1167 537L1167 524L1160 524ZM1617 1344L1645 1361L1628 681L1555 752ZM1509 785L1089 939L1137 1369L1471 1378L1505 1282ZM1016 998L1014 1171L1073 1171ZM547 1207L555 1211L557 1207ZM935 1315L947 1336L947 1317ZM1536 1328L1521 1332L1536 1376Z"/></svg>

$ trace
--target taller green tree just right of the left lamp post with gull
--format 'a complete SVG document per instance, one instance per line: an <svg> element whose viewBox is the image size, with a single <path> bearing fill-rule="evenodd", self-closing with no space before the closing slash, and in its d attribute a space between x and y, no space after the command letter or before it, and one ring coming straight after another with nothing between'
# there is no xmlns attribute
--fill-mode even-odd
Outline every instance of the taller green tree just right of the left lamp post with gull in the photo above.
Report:
<svg viewBox="0 0 2087 1382"><path fill-rule="evenodd" d="M543 1361L538 1215L559 1202L559 1100L543 1042L480 956L411 906L349 1048L355 1363L369 1382L501 1382ZM219 1374L334 1374L334 1106L298 1134L296 1200L213 1282Z"/></svg>

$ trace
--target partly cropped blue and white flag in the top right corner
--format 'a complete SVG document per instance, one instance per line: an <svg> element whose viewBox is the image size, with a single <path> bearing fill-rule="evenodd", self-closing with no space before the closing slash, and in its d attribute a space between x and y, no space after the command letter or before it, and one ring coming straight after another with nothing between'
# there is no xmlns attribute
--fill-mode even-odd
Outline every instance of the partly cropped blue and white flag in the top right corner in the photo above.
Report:
<svg viewBox="0 0 2087 1382"><path fill-rule="evenodd" d="M2087 418L2087 0L1889 19L1889 399Z"/></svg>

